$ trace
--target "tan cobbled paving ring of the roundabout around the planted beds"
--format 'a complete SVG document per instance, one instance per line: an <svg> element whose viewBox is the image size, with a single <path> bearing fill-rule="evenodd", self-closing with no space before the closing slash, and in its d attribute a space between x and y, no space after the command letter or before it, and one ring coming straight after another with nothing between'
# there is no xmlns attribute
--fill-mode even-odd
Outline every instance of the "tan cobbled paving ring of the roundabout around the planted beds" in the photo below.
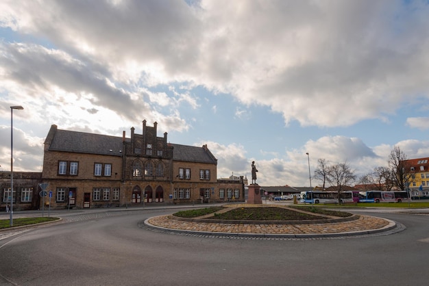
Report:
<svg viewBox="0 0 429 286"><path fill-rule="evenodd" d="M241 207L255 207L249 205L228 206L225 211ZM265 205L264 207L270 207ZM284 209L291 209L282 207ZM225 212L224 211L224 212ZM297 211L297 209L293 209ZM299 211L308 213L308 211ZM315 213L311 213L315 215ZM350 237L356 235L369 235L376 233L395 233L405 227L393 220L374 216L353 215L348 218L334 216L321 216L316 220L216 220L208 219L210 216L199 218L180 218L173 215L164 215L148 218L145 226L149 229L173 233L186 233L195 235L210 235L221 237Z"/></svg>

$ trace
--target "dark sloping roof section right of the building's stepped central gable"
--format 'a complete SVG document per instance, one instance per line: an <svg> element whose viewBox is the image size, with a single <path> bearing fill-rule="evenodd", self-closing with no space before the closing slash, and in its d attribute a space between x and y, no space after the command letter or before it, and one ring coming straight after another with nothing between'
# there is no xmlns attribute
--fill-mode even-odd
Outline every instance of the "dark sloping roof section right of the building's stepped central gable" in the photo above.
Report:
<svg viewBox="0 0 429 286"><path fill-rule="evenodd" d="M198 163L217 164L217 159L203 147L171 144L173 146L174 161L190 161Z"/></svg>

